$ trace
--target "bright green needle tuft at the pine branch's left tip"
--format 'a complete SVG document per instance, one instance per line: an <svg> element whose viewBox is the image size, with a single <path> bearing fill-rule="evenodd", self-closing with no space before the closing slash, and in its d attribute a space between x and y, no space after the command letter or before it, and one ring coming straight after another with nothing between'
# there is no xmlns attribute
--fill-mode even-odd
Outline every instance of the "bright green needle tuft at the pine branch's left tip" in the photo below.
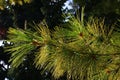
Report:
<svg viewBox="0 0 120 80"><path fill-rule="evenodd" d="M12 67L18 67L23 62L27 54L30 53L31 50L35 49L35 46L31 43L32 36L29 36L31 35L31 32L10 28L8 33L10 33L8 38L12 38L9 41L14 42L13 46L10 46L7 50L12 53L9 61L12 62Z"/></svg>

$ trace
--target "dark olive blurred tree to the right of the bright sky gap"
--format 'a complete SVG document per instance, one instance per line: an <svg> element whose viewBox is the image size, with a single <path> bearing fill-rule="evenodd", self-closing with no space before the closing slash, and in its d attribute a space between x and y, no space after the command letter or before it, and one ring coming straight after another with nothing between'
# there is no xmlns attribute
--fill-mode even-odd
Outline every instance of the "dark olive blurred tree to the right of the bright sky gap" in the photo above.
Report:
<svg viewBox="0 0 120 80"><path fill-rule="evenodd" d="M119 0L73 0L80 6L85 6L85 18L90 17L105 18L106 24L115 23L120 19Z"/></svg>

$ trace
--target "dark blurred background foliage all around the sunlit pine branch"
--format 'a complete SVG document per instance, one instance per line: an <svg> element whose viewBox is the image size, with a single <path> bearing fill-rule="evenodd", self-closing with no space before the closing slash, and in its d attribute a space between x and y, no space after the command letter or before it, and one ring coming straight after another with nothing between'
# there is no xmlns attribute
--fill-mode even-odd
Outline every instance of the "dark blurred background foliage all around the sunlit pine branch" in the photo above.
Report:
<svg viewBox="0 0 120 80"><path fill-rule="evenodd" d="M66 5L69 7L65 7ZM39 24L43 20L46 21L49 29L54 29L55 26L61 27L69 19L69 16L63 16L68 13L80 19L83 16L84 22L91 20L91 17L104 18L105 25L114 24L116 25L114 30L119 32L119 5L119 0L0 0L0 39L7 39L6 31L9 27L29 29L34 23ZM85 7L85 10L84 15L81 16L82 7ZM10 55L4 53L3 47L0 48L0 80L8 77L11 79L11 76L7 75ZM41 70L31 65L33 57L28 57L22 66L13 72L17 74L12 73L12 79L34 80L33 77L36 76L36 80L53 80L51 73L42 75L39 73ZM5 69L3 65L7 65L8 68ZM66 80L66 74L60 79Z"/></svg>

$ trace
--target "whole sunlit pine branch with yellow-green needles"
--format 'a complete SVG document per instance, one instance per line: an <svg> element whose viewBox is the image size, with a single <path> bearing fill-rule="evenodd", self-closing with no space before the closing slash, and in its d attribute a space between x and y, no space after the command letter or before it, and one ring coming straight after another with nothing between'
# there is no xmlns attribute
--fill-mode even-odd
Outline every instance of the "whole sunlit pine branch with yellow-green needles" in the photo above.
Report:
<svg viewBox="0 0 120 80"><path fill-rule="evenodd" d="M91 19L83 25L70 17L64 27L52 31L44 23L35 31L10 28L8 38L14 43L7 48L11 68L20 66L36 50L36 68L50 71L56 79L67 74L68 80L119 80L119 31L108 29L104 20Z"/></svg>

